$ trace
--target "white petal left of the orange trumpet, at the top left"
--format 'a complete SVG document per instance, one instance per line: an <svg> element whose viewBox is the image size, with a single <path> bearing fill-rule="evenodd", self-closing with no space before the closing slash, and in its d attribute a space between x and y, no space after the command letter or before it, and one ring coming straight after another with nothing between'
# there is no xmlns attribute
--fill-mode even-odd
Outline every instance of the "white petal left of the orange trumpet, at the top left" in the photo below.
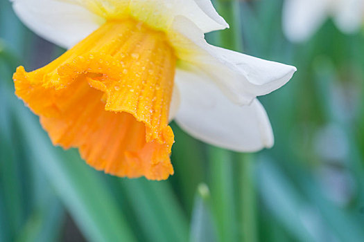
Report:
<svg viewBox="0 0 364 242"><path fill-rule="evenodd" d="M103 19L85 8L57 0L15 0L18 17L37 35L70 48L96 30Z"/></svg>

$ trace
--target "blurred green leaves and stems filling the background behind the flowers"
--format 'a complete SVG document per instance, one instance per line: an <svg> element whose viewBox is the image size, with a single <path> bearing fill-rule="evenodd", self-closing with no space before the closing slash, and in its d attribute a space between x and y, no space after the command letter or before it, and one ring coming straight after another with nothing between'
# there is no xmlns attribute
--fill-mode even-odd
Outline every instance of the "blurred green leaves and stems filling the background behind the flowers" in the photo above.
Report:
<svg viewBox="0 0 364 242"><path fill-rule="evenodd" d="M172 124L175 175L155 182L105 175L51 145L11 77L63 50L0 1L0 241L79 241L78 230L95 242L364 241L363 32L327 21L291 44L281 1L214 3L232 28L207 35L211 44L298 69L260 98L276 144L232 153Z"/></svg>

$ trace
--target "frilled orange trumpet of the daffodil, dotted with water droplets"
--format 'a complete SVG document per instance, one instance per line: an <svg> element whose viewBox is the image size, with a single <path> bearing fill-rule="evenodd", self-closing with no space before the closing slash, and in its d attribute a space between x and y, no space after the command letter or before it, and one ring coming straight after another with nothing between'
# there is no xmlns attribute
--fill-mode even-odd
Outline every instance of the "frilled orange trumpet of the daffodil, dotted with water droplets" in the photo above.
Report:
<svg viewBox="0 0 364 242"><path fill-rule="evenodd" d="M19 66L15 93L53 144L78 147L95 169L162 180L173 174L175 62L163 32L134 19L107 21L47 66Z"/></svg>

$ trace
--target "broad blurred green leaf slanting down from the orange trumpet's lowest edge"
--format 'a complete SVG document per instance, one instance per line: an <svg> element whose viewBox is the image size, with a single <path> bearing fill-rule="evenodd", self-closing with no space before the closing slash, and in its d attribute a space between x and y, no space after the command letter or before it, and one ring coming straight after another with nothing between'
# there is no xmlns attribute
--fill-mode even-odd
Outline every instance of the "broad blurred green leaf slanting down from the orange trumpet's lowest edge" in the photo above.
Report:
<svg viewBox="0 0 364 242"><path fill-rule="evenodd" d="M187 241L189 226L167 181L123 179L132 210L150 241Z"/></svg>

